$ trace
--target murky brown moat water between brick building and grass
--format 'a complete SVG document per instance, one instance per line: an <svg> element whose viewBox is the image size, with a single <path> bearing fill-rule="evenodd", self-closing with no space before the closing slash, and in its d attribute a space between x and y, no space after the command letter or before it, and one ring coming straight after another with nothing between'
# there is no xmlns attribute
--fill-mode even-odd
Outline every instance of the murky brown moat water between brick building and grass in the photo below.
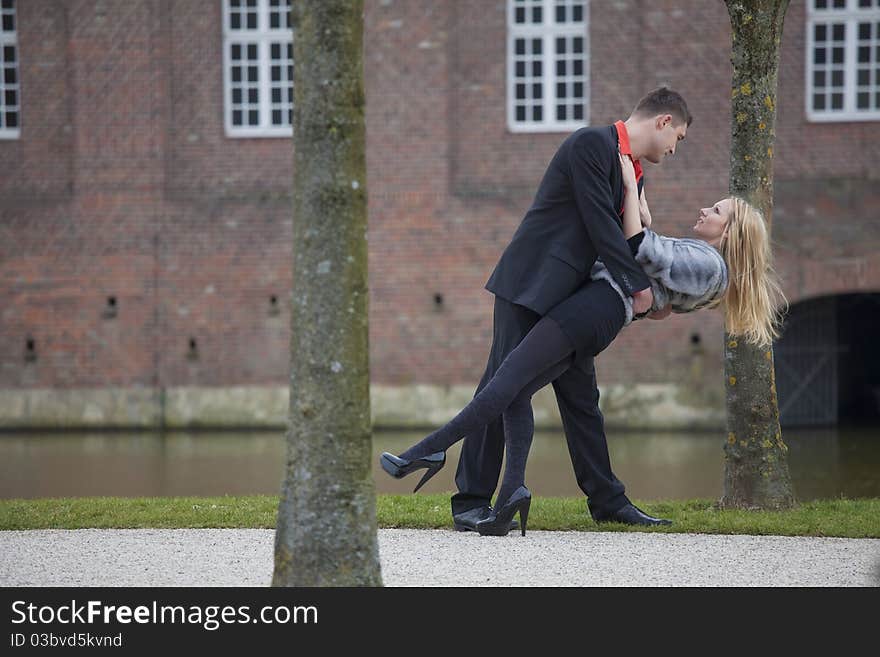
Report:
<svg viewBox="0 0 880 657"><path fill-rule="evenodd" d="M418 477L394 480L377 456L400 452L421 432L379 432L373 469L380 493L406 493ZM789 430L789 465L800 500L880 497L880 435L875 429ZM717 498L723 438L718 433L610 432L615 473L639 499ZM454 489L458 446L422 490ZM277 494L282 432L0 434L0 497ZM527 482L535 495L577 496L565 438L535 436ZM410 481L412 479L412 481Z"/></svg>

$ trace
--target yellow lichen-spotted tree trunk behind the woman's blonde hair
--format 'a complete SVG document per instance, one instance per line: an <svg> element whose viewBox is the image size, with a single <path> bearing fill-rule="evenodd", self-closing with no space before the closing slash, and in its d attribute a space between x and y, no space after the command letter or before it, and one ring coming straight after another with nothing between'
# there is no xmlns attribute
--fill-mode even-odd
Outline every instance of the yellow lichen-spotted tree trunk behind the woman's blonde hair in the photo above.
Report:
<svg viewBox="0 0 880 657"><path fill-rule="evenodd" d="M776 81L788 0L726 0L733 45L730 192L760 208L771 226ZM726 508L794 505L788 447L782 442L772 347L725 333Z"/></svg>

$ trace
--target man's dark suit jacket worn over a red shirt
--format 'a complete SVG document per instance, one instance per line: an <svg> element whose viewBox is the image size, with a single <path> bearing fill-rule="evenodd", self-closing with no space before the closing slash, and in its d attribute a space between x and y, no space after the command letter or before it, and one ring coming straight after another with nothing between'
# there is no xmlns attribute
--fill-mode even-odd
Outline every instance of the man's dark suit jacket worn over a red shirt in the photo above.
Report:
<svg viewBox="0 0 880 657"><path fill-rule="evenodd" d="M617 152L613 125L581 128L562 143L487 290L544 315L589 279L597 257L624 293L649 287L623 237Z"/></svg>

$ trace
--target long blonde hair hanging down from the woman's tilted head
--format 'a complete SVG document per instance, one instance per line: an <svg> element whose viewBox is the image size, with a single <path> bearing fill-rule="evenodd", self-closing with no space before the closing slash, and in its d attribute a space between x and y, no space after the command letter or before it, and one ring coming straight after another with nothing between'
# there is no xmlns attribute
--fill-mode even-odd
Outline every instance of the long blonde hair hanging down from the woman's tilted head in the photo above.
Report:
<svg viewBox="0 0 880 657"><path fill-rule="evenodd" d="M727 263L724 323L731 335L766 346L779 337L780 311L787 301L773 269L764 216L742 198L730 201L732 211L718 245Z"/></svg>

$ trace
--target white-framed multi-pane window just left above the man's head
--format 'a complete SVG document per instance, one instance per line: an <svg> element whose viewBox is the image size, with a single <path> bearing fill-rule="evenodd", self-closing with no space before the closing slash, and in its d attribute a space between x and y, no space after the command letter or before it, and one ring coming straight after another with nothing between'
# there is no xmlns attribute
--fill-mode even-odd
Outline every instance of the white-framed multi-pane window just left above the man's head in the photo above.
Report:
<svg viewBox="0 0 880 657"><path fill-rule="evenodd" d="M562 132L589 121L589 0L507 0L507 126Z"/></svg>

